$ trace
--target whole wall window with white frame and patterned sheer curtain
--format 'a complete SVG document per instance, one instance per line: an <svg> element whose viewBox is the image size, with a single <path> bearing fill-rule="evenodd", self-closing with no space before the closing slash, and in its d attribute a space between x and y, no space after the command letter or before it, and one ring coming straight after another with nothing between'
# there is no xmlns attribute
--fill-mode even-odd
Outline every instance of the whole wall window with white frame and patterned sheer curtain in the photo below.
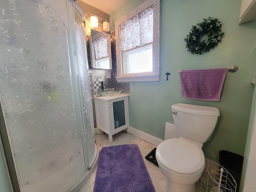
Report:
<svg viewBox="0 0 256 192"><path fill-rule="evenodd" d="M117 20L115 30L118 82L158 81L160 0L145 1Z"/></svg>

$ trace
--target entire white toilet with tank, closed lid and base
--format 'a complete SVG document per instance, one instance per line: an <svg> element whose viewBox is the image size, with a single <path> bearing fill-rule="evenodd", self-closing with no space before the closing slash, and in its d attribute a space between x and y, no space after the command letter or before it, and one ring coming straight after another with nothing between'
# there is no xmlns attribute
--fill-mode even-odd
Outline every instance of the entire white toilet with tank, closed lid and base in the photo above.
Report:
<svg viewBox="0 0 256 192"><path fill-rule="evenodd" d="M167 178L166 192L195 192L195 183L204 170L203 144L210 139L220 111L215 107L172 105L179 138L160 143L156 160Z"/></svg>

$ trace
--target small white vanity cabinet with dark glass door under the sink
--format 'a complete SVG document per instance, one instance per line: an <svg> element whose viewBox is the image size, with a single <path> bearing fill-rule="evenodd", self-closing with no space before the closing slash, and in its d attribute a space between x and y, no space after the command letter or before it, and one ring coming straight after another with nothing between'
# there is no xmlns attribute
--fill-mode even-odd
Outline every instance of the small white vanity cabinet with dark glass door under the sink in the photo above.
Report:
<svg viewBox="0 0 256 192"><path fill-rule="evenodd" d="M94 98L97 133L100 130L108 134L109 142L113 142L112 136L124 129L130 132L129 122L129 94L116 96L101 96Z"/></svg>

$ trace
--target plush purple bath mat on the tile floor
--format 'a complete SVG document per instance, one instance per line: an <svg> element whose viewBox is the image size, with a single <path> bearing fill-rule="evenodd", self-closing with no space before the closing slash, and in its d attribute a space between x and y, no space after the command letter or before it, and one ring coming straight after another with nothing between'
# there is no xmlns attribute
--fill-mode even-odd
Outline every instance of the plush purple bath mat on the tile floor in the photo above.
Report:
<svg viewBox="0 0 256 192"><path fill-rule="evenodd" d="M93 192L156 192L136 144L100 150Z"/></svg>

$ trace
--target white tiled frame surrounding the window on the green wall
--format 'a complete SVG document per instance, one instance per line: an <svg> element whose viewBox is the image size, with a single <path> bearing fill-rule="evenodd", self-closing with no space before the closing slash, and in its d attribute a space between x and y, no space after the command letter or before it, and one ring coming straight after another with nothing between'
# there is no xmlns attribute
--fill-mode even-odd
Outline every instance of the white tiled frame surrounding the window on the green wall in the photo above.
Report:
<svg viewBox="0 0 256 192"><path fill-rule="evenodd" d="M122 52L119 49L119 29L118 26L130 18L136 16L149 6L153 7L153 42L152 42L152 72L144 72L138 74L124 74L122 65ZM146 0L140 6L122 16L115 22L116 31L116 67L118 82L134 82L134 81L159 81L160 61L160 0Z"/></svg>

